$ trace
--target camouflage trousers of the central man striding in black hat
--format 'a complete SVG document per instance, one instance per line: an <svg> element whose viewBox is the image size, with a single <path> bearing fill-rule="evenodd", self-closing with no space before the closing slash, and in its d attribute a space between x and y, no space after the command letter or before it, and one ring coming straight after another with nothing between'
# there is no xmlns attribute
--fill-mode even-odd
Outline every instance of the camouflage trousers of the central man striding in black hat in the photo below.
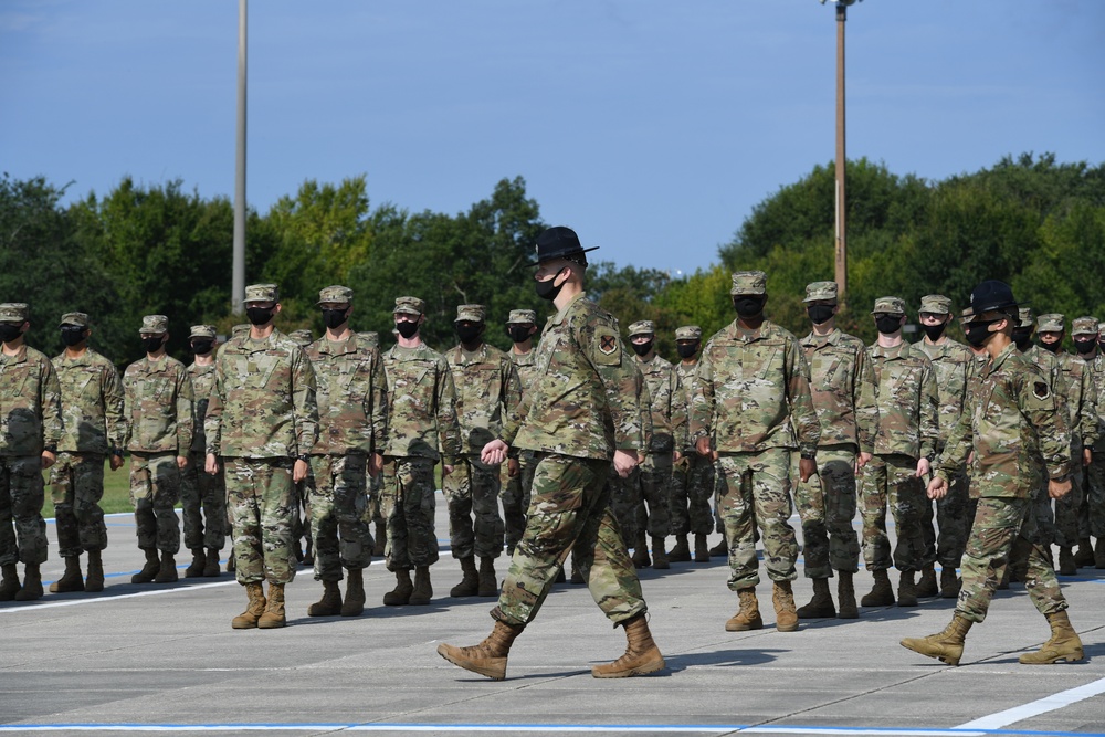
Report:
<svg viewBox="0 0 1105 737"><path fill-rule="evenodd" d="M571 551L591 598L613 623L648 610L610 510L610 461L538 453L526 531L511 558L492 617L527 624Z"/></svg>

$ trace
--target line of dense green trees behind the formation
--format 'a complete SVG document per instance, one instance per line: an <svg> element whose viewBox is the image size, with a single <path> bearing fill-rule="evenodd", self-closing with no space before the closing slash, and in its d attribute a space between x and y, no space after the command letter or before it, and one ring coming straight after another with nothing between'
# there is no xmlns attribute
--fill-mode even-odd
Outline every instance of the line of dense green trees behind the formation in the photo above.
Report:
<svg viewBox="0 0 1105 737"><path fill-rule="evenodd" d="M962 308L985 278L1009 282L1036 314L1105 318L1105 165L1024 154L926 181L859 159L848 178L849 302L838 320L845 330L873 339L869 313L886 295L903 297L914 316L932 293ZM71 310L92 316L93 344L119 365L141 355L143 315L169 317L169 350L181 358L190 325L229 334L244 322L230 312L229 199L202 198L179 180L140 186L126 177L104 197L63 206L67 187L0 178L0 301L31 305L31 345L57 352L57 319ZM588 292L623 330L655 320L657 348L673 357L675 328L693 323L709 335L728 324L729 274L759 269L768 317L803 335L806 285L833 277L834 188L833 166L815 166L756 206L711 267L673 277L599 262ZM320 335L318 289L345 284L356 294L354 327L380 331L385 345L394 297L412 294L427 301L430 345L455 344L456 305L478 303L488 309L486 339L505 348L511 309L549 314L528 266L546 227L520 177L456 214L372 207L364 176L308 180L267 213L249 212L248 281L280 285L285 331Z"/></svg>

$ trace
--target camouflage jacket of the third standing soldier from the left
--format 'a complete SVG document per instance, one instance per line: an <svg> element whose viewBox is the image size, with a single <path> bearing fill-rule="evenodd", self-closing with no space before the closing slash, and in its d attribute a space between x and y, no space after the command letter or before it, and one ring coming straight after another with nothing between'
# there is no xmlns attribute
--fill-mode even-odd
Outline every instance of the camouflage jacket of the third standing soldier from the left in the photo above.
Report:
<svg viewBox="0 0 1105 737"><path fill-rule="evenodd" d="M187 456L192 446L192 382L171 356L139 358L123 373L126 445L143 453Z"/></svg>

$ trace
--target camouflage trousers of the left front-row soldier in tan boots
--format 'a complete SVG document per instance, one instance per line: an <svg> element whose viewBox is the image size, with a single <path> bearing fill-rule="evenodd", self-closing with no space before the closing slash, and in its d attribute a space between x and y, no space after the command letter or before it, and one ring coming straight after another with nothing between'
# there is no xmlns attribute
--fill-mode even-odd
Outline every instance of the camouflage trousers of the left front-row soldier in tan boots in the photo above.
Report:
<svg viewBox="0 0 1105 737"><path fill-rule="evenodd" d="M223 459L227 505L234 529L238 582L295 579L292 517L296 514L292 459Z"/></svg>

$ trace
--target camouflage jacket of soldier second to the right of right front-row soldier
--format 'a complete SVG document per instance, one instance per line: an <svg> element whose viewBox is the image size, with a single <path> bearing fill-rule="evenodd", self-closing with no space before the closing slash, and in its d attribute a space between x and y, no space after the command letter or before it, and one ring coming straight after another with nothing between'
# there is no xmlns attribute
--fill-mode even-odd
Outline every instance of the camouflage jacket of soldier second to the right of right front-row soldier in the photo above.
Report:
<svg viewBox="0 0 1105 737"><path fill-rule="evenodd" d="M867 348L875 373L878 436L875 453L932 457L939 438L940 394L933 364L924 352L902 341L893 348Z"/></svg>

